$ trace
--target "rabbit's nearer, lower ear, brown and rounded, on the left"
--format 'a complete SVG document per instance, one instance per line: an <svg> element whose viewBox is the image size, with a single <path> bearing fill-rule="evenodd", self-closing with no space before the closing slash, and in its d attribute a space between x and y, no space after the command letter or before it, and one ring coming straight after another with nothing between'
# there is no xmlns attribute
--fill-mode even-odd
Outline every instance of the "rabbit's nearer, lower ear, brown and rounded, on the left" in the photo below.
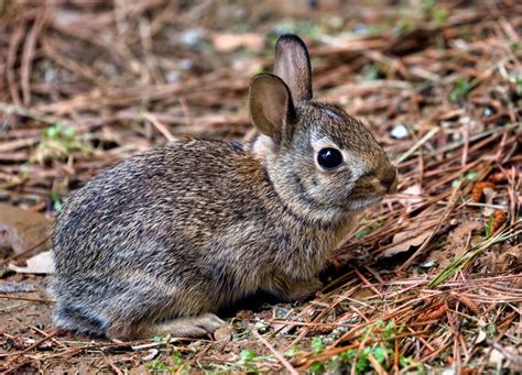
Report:
<svg viewBox="0 0 522 375"><path fill-rule="evenodd" d="M271 74L253 77L250 84L250 117L258 130L281 142L295 117L290 90L283 80Z"/></svg>

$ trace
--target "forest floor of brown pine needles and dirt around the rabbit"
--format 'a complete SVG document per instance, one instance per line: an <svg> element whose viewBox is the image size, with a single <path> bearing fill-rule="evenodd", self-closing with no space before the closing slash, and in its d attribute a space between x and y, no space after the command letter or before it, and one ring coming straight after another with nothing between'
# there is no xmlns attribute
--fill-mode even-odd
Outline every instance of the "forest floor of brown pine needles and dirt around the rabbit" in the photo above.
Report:
<svg viewBox="0 0 522 375"><path fill-rule="evenodd" d="M46 3L0 3L1 373L522 371L520 2ZM9 239L132 154L252 139L249 81L286 32L308 44L315 97L361 118L399 168L325 288L247 305L205 340L56 331L46 234Z"/></svg>

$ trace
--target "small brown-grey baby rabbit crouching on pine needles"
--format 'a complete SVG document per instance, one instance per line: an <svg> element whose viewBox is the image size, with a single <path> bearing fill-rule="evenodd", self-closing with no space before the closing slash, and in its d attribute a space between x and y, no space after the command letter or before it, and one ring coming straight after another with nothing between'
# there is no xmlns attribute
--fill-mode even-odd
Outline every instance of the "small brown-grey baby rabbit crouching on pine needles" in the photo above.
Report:
<svg viewBox="0 0 522 375"><path fill-rule="evenodd" d="M54 229L55 324L202 337L255 291L292 301L320 288L328 255L396 172L361 122L312 99L311 78L304 43L281 36L274 75L250 85L254 142L173 142L74 194Z"/></svg>

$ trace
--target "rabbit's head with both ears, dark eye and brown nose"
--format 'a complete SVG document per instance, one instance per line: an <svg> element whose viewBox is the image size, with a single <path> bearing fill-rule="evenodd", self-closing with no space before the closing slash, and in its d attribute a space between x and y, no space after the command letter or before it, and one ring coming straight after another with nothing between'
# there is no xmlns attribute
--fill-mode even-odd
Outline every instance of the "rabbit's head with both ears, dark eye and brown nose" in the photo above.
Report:
<svg viewBox="0 0 522 375"><path fill-rule="evenodd" d="M396 169L368 129L340 107L312 99L306 46L283 35L274 75L250 86L253 145L282 202L312 220L338 221L378 203L396 186Z"/></svg>

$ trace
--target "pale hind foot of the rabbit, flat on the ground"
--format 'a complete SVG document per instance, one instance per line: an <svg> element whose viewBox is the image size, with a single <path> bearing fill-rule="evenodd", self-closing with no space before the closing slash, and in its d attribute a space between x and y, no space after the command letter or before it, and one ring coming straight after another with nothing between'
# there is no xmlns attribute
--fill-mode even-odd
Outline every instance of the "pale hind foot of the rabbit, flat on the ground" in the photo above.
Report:
<svg viewBox="0 0 522 375"><path fill-rule="evenodd" d="M153 328L155 335L178 338L205 338L213 334L219 327L226 324L214 313L204 313L196 317L177 318Z"/></svg>

